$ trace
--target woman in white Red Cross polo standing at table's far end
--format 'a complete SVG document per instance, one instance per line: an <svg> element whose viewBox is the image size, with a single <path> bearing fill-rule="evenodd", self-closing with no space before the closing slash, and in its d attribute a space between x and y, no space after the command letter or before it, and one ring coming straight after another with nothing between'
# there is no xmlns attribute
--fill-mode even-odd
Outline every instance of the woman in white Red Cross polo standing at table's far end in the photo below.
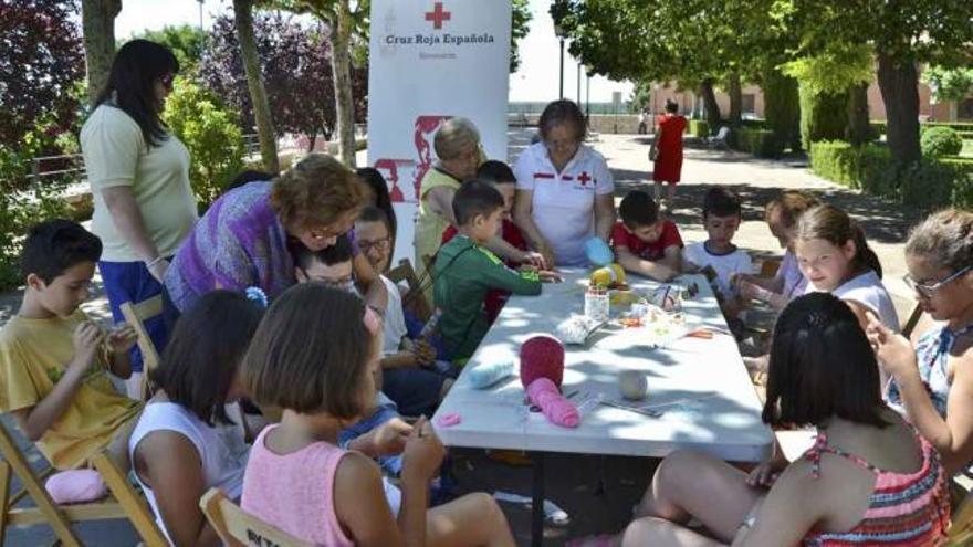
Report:
<svg viewBox="0 0 973 547"><path fill-rule="evenodd" d="M606 243L615 225L615 183L605 158L584 146L585 116L566 99L548 104L538 123L541 141L514 166L514 222L547 266L586 265L584 243Z"/></svg>

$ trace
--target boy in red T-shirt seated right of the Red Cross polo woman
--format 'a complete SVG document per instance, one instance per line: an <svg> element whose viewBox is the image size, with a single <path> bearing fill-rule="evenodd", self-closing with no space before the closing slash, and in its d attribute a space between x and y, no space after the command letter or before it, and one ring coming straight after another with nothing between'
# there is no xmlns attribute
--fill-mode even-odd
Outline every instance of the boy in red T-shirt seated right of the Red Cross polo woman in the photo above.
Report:
<svg viewBox="0 0 973 547"><path fill-rule="evenodd" d="M618 264L627 272L668 282L681 273L682 238L655 200L641 190L626 194L618 207L621 222L611 232Z"/></svg>

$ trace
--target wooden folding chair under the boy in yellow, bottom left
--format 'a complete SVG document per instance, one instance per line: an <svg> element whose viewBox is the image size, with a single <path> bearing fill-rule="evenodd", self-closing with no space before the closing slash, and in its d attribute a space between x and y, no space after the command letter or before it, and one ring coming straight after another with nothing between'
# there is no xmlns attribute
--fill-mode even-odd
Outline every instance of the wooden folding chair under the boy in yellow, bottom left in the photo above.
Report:
<svg viewBox="0 0 973 547"><path fill-rule="evenodd" d="M17 446L10 432L7 431L7 427L2 424L0 424L0 454L3 456L0 460L0 547L2 547L6 538L7 526L33 526L39 524L50 526L61 541L61 545L81 547L81 540L71 528L72 523L125 519L129 517L129 512L134 513L137 506L132 503L132 499L118 499L111 496L100 502L56 505L43 485L43 481L54 473L54 469L49 467L40 473L35 473L24 454ZM103 456L98 456L98 459L101 457ZM96 459L96 462L100 461L98 459ZM112 463L108 462L108 464ZM105 462L102 460L101 466L104 465ZM23 485L20 492L12 493L10 490L12 474L17 474L17 477ZM112 484L107 477L105 477L105 481L109 485ZM113 493L115 490L113 487ZM132 493L134 494L134 491ZM33 499L35 507L15 507L27 496ZM142 507L145 511L144 505ZM155 522L151 520L151 517L148 517L148 520L155 527ZM158 532L158 528L155 528L155 534L153 534L142 523L136 520L132 520L132 523L147 546L163 547L168 545L161 533Z"/></svg>

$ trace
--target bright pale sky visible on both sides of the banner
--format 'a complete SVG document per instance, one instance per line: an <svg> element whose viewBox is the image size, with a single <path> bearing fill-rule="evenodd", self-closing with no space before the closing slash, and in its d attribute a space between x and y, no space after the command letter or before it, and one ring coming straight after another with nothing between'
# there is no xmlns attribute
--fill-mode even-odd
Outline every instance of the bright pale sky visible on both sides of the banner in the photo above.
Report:
<svg viewBox="0 0 973 547"><path fill-rule="evenodd" d="M430 0L431 1L431 0ZM483 1L483 0L481 0ZM558 43L554 25L547 13L551 0L531 0L531 32L520 42L521 69L510 76L511 101L550 101L557 98ZM115 35L128 38L145 29L161 29L167 24L199 24L197 0L123 0L122 13L115 20ZM208 28L216 15L232 11L228 0L203 0L202 24ZM564 92L568 98L577 98L577 61L565 54ZM622 99L631 94L631 84L609 82L593 77L593 102L611 101L611 92L622 92ZM585 80L582 78L582 98L585 98Z"/></svg>

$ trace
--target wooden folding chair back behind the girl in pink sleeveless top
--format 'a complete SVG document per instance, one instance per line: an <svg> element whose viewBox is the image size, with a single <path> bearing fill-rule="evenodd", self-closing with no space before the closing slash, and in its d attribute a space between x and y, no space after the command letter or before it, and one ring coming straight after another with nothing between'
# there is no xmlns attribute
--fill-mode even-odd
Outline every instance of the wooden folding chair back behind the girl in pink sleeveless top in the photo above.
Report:
<svg viewBox="0 0 973 547"><path fill-rule="evenodd" d="M274 528L253 515L247 514L219 488L210 488L199 499L199 506L209 520L210 526L223 545L231 547L311 547L307 541Z"/></svg>

